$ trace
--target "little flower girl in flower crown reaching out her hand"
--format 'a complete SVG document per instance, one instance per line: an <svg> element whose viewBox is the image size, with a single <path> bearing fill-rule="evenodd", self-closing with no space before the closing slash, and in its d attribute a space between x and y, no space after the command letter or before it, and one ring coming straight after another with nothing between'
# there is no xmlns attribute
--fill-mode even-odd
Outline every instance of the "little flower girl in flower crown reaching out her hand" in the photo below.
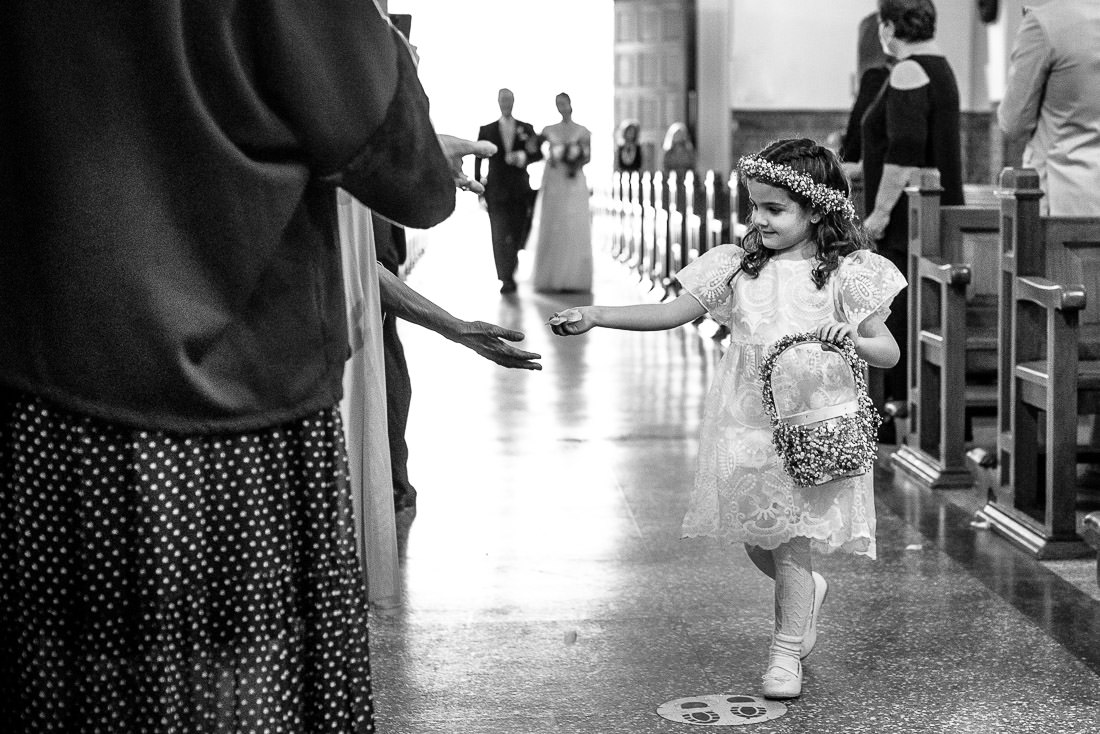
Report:
<svg viewBox="0 0 1100 734"><path fill-rule="evenodd" d="M672 329L710 314L730 330L707 392L682 535L745 544L774 580L763 694L791 699L802 693L802 659L816 645L828 589L811 550L875 558L875 486L870 473L811 489L794 484L772 443L760 359L769 344L809 331L850 338L869 365L892 365L899 349L883 319L905 280L867 249L832 151L807 139L780 140L738 168L751 206L744 248L707 250L681 270L684 291L675 299L569 308L549 322L554 333L575 336L595 327ZM836 390L843 381L821 383ZM832 405L829 387L823 390L814 397Z"/></svg>

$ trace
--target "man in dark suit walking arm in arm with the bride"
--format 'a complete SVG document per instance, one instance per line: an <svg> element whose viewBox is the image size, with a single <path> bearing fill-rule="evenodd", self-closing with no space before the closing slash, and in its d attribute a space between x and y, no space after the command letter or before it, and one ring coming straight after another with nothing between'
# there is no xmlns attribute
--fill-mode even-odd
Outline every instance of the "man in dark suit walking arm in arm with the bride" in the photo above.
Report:
<svg viewBox="0 0 1100 734"><path fill-rule="evenodd" d="M474 161L474 179L485 186L485 205L493 231L493 260L501 293L516 292L518 253L531 226L535 193L527 176L527 166L542 157L535 128L512 117L516 98L510 89L496 96L501 119L482 125L477 140L496 145L488 158L488 176L482 178L482 160Z"/></svg>

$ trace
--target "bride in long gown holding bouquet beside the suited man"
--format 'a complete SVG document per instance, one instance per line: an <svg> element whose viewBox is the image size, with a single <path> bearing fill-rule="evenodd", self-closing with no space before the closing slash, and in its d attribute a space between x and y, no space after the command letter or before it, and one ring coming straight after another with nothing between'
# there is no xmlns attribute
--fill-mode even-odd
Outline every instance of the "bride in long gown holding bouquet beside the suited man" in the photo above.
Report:
<svg viewBox="0 0 1100 734"><path fill-rule="evenodd" d="M592 291L592 222L583 166L592 156L592 133L573 122L569 95L561 92L554 101L561 122L540 134L550 150L528 240L528 252L535 253L531 280L539 293L586 293Z"/></svg>

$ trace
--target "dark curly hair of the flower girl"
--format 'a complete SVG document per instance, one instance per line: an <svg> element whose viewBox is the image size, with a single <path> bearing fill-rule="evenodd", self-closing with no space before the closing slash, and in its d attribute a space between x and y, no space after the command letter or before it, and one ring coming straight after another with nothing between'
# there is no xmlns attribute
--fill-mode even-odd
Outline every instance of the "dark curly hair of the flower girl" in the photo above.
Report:
<svg viewBox="0 0 1100 734"><path fill-rule="evenodd" d="M757 155L770 163L782 164L804 173L818 184L851 195L848 178L844 175L836 154L809 138L777 140L768 143ZM785 186L772 182L762 183L784 189L792 199L807 209L815 208L810 199ZM848 219L843 211L826 213L817 209L817 212L821 219L811 224L810 239L817 244L817 265L811 277L820 289L825 287L829 275L840 265L840 258L856 250L870 250L872 245L864 233L864 228ZM760 269L774 256L776 252L761 244L760 230L751 222L741 244L746 250L741 260L741 271L749 277L757 277L760 275Z"/></svg>

